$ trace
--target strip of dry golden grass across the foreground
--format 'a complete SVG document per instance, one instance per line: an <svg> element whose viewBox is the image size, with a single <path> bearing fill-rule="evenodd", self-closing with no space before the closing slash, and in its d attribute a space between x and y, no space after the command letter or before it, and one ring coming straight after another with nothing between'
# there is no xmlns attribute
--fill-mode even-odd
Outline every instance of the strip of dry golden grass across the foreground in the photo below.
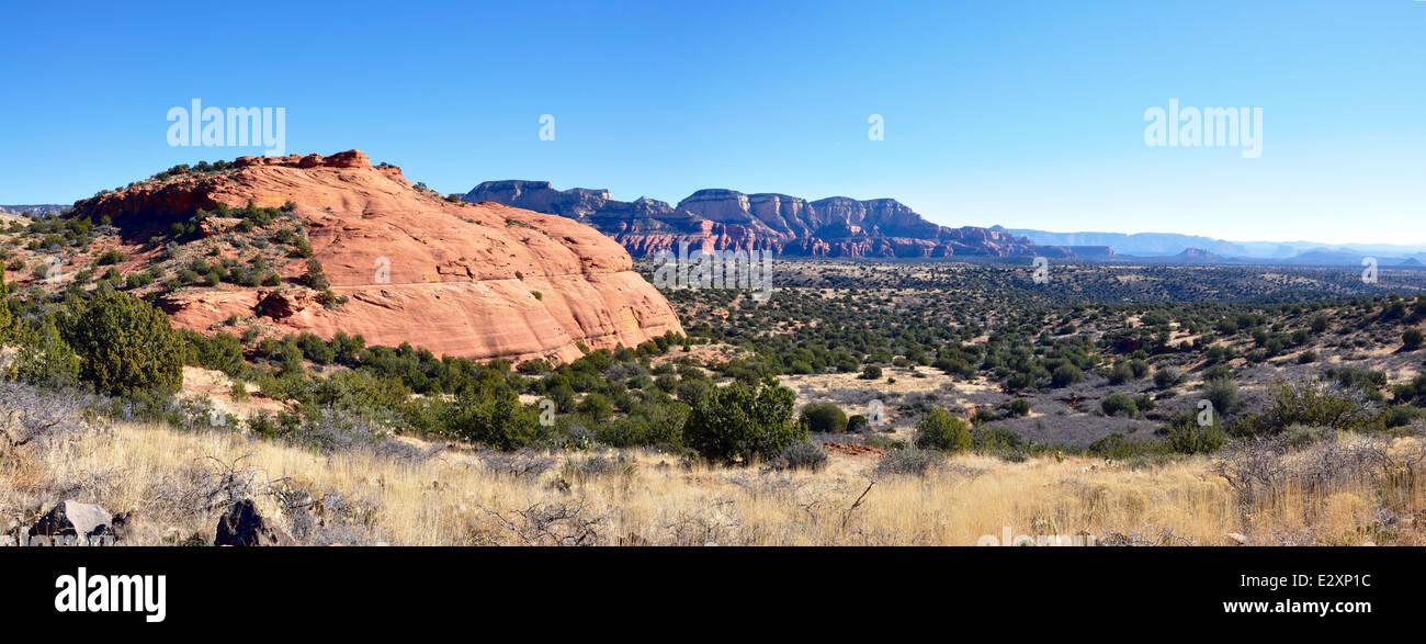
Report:
<svg viewBox="0 0 1426 644"><path fill-rule="evenodd" d="M111 511L134 510L134 543L211 539L217 514L194 509L191 490L215 480L221 462L250 470L268 516L284 516L277 497L264 494L272 482L339 506L319 519L345 531L307 543L977 544L1007 531L1195 544L1232 543L1226 534L1233 531L1253 541L1278 536L1276 543L1285 534L1296 543L1303 531L1310 543L1380 539L1365 530L1380 497L1369 482L1310 494L1285 489L1241 513L1206 457L1131 469L1085 457L961 456L918 477L877 476L868 457L833 457L821 472L786 473L623 456L632 472L579 474L569 463L589 455L535 455L556 463L532 476L495 473L482 455L462 450L425 459L322 456L237 433L121 425L6 462L0 510L47 507L60 500L54 490L68 490ZM1397 496L1403 509L1426 507L1415 489ZM1419 543L1413 534L1403 531L1400 541Z"/></svg>

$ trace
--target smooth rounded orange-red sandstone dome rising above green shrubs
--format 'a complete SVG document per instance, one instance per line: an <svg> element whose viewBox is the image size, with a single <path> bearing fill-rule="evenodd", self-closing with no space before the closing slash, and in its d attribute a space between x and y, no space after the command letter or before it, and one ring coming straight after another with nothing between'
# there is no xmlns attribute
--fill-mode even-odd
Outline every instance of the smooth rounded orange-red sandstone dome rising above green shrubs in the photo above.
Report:
<svg viewBox="0 0 1426 644"><path fill-rule="evenodd" d="M331 291L327 308L295 286L185 288L160 306L175 323L208 332L228 316L275 333L338 331L368 345L409 342L436 355L572 360L589 348L636 346L677 316L635 274L629 254L599 231L558 215L498 204L449 202L416 189L401 170L361 151L329 157L241 157L235 170L184 175L81 202L96 218L155 221L227 204L295 204ZM208 219L202 234L225 222ZM147 232L144 232L147 234ZM140 234L135 234L140 237ZM279 266L301 275L305 259Z"/></svg>

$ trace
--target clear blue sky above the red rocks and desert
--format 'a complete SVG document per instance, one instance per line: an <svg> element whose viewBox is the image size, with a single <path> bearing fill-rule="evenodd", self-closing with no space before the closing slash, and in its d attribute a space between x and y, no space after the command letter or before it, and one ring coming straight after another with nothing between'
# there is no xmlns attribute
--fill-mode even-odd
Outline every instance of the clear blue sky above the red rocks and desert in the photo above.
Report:
<svg viewBox="0 0 1426 644"><path fill-rule="evenodd" d="M168 108L201 98L284 107L288 152L361 148L442 192L529 178L676 202L719 187L893 197L945 225L1426 242L1426 1L6 14L3 204L261 154L170 147ZM1262 108L1262 155L1145 145L1145 110L1169 98Z"/></svg>

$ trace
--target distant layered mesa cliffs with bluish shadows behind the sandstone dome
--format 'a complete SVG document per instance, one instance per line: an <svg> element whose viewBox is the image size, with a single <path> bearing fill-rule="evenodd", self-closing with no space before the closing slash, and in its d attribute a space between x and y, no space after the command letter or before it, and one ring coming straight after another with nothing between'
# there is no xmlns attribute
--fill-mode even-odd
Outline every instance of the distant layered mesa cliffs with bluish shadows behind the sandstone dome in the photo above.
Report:
<svg viewBox="0 0 1426 644"><path fill-rule="evenodd" d="M766 249L793 256L1074 254L1002 231L941 227L896 199L830 197L807 201L781 194L700 189L673 207L646 197L615 201L606 189L555 189L548 181L486 181L463 199L568 217L615 238L635 255L677 251L684 242L694 251Z"/></svg>

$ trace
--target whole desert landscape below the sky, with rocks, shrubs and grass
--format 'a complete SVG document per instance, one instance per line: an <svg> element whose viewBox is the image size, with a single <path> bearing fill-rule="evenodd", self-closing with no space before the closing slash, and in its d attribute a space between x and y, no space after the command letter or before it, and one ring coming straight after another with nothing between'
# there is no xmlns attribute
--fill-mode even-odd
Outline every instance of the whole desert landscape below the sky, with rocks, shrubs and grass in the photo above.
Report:
<svg viewBox="0 0 1426 644"><path fill-rule="evenodd" d="M1426 539L1412 266L441 195L355 150L0 217L9 544ZM770 252L771 296L657 288L680 244Z"/></svg>

